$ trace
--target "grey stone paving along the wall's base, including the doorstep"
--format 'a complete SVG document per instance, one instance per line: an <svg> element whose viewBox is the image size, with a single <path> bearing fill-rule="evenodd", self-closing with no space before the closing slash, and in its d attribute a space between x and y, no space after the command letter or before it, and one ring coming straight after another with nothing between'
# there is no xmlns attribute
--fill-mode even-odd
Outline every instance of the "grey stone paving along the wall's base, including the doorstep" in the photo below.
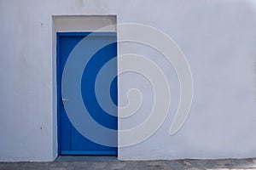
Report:
<svg viewBox="0 0 256 170"><path fill-rule="evenodd" d="M0 169L187 169L187 170L256 170L256 158L223 160L177 160L177 161L118 161L115 158L86 158L61 156L53 162L0 162Z"/></svg>

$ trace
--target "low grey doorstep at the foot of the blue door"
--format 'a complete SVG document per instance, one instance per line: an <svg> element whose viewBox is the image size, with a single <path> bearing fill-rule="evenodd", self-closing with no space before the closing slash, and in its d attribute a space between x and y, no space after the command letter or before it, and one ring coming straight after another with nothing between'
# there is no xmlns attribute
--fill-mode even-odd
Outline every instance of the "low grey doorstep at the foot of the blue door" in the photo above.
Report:
<svg viewBox="0 0 256 170"><path fill-rule="evenodd" d="M58 156L55 161L119 161L117 156Z"/></svg>

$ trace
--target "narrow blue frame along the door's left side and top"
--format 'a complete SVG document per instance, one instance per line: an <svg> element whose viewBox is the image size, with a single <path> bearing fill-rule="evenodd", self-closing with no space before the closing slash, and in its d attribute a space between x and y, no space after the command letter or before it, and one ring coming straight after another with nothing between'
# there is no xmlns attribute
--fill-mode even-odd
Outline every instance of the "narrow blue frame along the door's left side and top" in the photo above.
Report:
<svg viewBox="0 0 256 170"><path fill-rule="evenodd" d="M57 146L58 146L58 156L61 155L61 44L60 39L63 36L88 36L91 32L90 31L80 31L80 32L55 32L56 35L56 89L57 89ZM94 36L114 36L117 37L116 32L94 32ZM118 54L118 47L117 47L117 54ZM117 63L118 67L118 63ZM117 84L118 88L118 84ZM117 94L118 100L118 94ZM117 117L117 125L119 125L119 119ZM119 127L119 126L117 126ZM117 133L117 140L118 140L118 133ZM117 142L118 143L118 142ZM118 149L118 146L117 146ZM76 151L74 151L76 152ZM76 152L74 155L79 155L79 152ZM96 152L95 154L90 154L91 156L102 156L101 151ZM118 156L118 151L116 153Z"/></svg>

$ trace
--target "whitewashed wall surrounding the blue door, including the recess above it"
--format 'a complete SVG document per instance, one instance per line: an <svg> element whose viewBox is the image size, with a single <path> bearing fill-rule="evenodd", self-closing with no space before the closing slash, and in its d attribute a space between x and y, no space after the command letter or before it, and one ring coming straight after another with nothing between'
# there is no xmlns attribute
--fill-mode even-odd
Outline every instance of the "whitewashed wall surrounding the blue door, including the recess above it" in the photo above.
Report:
<svg viewBox="0 0 256 170"><path fill-rule="evenodd" d="M254 0L1 1L0 20L0 161L60 154L57 32L96 30L117 37L119 160L256 156Z"/></svg>

